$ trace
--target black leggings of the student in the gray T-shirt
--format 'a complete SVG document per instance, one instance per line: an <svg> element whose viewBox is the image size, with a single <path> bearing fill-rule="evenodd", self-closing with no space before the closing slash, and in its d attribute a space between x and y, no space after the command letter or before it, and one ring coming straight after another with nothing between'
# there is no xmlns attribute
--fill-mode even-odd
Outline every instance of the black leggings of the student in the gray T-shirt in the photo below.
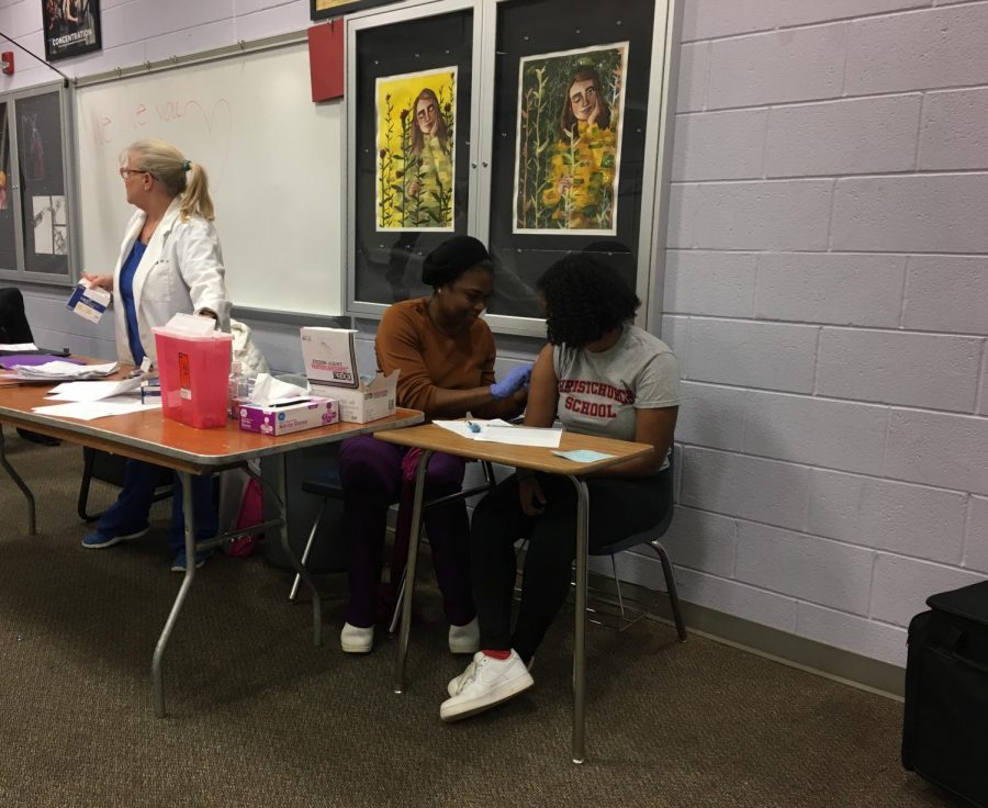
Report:
<svg viewBox="0 0 988 808"><path fill-rule="evenodd" d="M590 480L591 549L655 525L672 507L667 478ZM480 620L481 648L514 648L527 663L566 599L576 557L576 489L563 476L539 474L546 510L526 516L513 474L476 506L470 534L470 573ZM527 538L521 608L512 633L515 542Z"/></svg>

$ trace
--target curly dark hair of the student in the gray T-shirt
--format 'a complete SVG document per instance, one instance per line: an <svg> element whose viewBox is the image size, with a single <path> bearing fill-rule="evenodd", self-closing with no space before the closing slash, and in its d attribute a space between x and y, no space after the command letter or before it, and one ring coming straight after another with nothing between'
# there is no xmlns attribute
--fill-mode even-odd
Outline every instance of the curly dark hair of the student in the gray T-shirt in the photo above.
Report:
<svg viewBox="0 0 988 808"><path fill-rule="evenodd" d="M558 260L536 287L552 345L582 348L631 319L641 305L617 274L584 252Z"/></svg>

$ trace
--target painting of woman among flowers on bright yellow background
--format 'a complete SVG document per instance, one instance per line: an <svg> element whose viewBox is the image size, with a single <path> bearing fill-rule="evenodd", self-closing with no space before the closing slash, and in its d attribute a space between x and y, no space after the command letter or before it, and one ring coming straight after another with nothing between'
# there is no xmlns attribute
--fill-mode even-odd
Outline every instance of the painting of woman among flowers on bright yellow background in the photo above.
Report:
<svg viewBox="0 0 988 808"><path fill-rule="evenodd" d="M452 232L457 66L377 79L377 229Z"/></svg>

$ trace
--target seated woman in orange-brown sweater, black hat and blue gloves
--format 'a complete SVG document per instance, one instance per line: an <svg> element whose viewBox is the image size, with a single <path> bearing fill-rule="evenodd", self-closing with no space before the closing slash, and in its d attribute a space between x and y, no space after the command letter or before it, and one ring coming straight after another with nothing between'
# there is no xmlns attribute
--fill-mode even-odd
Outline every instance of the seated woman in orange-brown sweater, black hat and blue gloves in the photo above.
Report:
<svg viewBox="0 0 988 808"><path fill-rule="evenodd" d="M423 282L429 298L391 306L381 319L374 349L378 369L401 371L397 405L422 409L426 418L512 417L525 408L531 367L494 377L494 337L481 314L494 287L494 270L483 244L453 236L426 256ZM344 441L339 473L344 484L343 527L346 537L350 603L340 633L348 653L373 647L378 619L378 583L388 508L412 480L417 456L407 449L359 436ZM426 496L456 493L464 462L437 453L428 465ZM470 594L468 538L470 524L463 501L424 512L433 565L449 620L451 653L476 651L476 613Z"/></svg>

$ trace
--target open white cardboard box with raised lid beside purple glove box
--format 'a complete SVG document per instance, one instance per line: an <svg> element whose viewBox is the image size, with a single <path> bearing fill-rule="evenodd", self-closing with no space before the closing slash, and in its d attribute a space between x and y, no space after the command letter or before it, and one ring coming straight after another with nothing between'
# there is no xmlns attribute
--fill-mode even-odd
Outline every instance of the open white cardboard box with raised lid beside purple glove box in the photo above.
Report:
<svg viewBox="0 0 988 808"><path fill-rule="evenodd" d="M364 381L357 367L350 328L303 326L302 357L313 395L339 402L340 420L366 424L394 415L398 371Z"/></svg>

